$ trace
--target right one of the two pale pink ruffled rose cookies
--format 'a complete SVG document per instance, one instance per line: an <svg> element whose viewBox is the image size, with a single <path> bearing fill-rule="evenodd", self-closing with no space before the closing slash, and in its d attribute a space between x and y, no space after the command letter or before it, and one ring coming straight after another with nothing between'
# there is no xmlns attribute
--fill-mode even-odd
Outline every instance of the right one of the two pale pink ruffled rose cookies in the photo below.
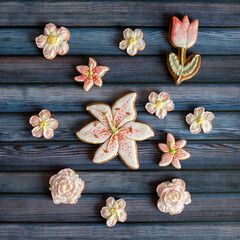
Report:
<svg viewBox="0 0 240 240"><path fill-rule="evenodd" d="M157 187L158 209L171 215L181 213L185 205L191 203L191 195L185 189L185 182L176 178L171 182L167 181L159 184Z"/></svg>

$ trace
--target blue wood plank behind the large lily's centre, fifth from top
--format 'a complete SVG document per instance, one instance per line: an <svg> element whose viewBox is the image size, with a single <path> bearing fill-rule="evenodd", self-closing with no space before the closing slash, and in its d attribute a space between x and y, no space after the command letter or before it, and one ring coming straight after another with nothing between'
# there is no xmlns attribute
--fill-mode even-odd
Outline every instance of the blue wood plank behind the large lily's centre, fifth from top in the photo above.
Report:
<svg viewBox="0 0 240 240"><path fill-rule="evenodd" d="M56 103L57 104L57 103ZM40 105L39 105L40 106ZM203 105L204 106L204 105ZM38 113L41 108L38 108ZM49 109L51 110L51 108ZM1 114L0 115L0 141L43 141L34 138L31 134L32 127L28 123L33 113ZM187 112L171 112L167 118L160 120L149 113L138 113L137 121L148 123L155 131L155 137L151 140L165 142L166 133L171 132L176 139L187 140L239 140L239 113L238 112L214 112L213 130L208 133L192 134L189 125L185 122ZM53 116L59 121L59 127L55 131L55 136L49 141L68 141L75 140L76 132L92 121L93 118L88 113L54 113ZM226 125L226 123L228 123ZM139 142L140 146L142 143ZM97 146L96 146L97 147Z"/></svg>

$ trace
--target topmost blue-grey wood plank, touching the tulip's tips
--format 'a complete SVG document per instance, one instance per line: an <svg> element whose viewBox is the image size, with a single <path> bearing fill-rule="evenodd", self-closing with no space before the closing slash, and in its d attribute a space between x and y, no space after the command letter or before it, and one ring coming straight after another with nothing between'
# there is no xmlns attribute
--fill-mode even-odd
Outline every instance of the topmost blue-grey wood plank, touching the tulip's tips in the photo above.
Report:
<svg viewBox="0 0 240 240"><path fill-rule="evenodd" d="M239 12L237 3L2 1L0 26L38 26L53 20L66 26L168 26L176 14L198 18L201 26L239 26Z"/></svg>

